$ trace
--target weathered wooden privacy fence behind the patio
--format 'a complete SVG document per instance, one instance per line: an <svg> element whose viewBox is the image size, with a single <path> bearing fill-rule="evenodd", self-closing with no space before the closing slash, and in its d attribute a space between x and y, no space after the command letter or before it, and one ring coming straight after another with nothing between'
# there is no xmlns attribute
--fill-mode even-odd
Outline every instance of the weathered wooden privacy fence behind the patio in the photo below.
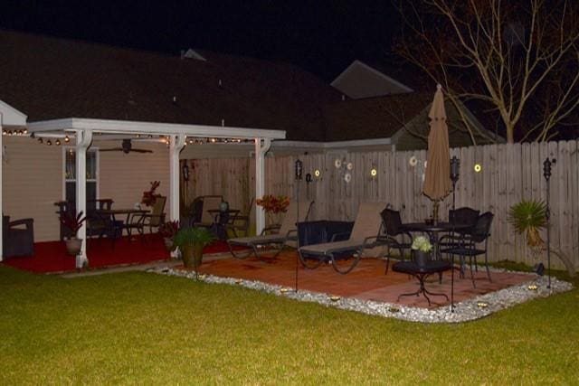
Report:
<svg viewBox="0 0 579 386"><path fill-rule="evenodd" d="M543 161L556 158L551 177L551 243L579 266L579 167L577 142L504 144L451 149L460 159L456 186L456 207L470 206L495 214L489 239L489 259L510 259L535 264L546 254L534 256L525 238L508 224L509 207L523 199L546 200ZM411 157L417 160L410 163ZM266 193L295 197L295 156L266 158ZM403 221L422 221L432 214L432 202L422 195L423 162L426 152L342 152L300 155L304 180L299 183L300 199L315 200L315 219L354 220L359 202L390 202L401 211ZM341 166L336 167L339 159ZM202 194L223 194L232 207L247 210L254 197L255 167L250 158L201 159L194 165L189 182L190 198ZM347 165L351 164L351 170ZM480 171L475 171L480 165ZM375 169L376 175L371 175ZM319 171L319 177L315 171ZM305 174L312 175L306 183ZM346 183L346 173L351 181ZM452 195L440 208L448 217ZM545 239L545 232L543 232ZM563 268L552 256L554 267Z"/></svg>

